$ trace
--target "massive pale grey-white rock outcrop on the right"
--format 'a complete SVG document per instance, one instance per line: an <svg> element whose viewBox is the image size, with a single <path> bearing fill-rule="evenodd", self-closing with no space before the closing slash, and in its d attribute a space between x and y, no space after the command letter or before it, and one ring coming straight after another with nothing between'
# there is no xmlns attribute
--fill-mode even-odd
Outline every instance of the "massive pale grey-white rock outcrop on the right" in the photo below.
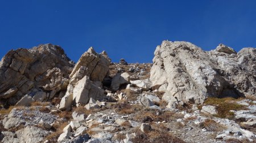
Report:
<svg viewBox="0 0 256 143"><path fill-rule="evenodd" d="M256 96L255 48L237 54L222 44L203 51L189 42L163 41L154 54L150 80L164 89L166 101L203 103L209 96Z"/></svg>

